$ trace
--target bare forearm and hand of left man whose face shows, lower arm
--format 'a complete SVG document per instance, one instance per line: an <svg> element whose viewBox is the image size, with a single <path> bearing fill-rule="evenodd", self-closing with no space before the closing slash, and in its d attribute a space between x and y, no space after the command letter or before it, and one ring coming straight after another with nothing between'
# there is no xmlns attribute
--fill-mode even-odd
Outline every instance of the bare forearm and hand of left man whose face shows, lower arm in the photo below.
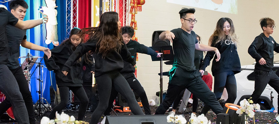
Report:
<svg viewBox="0 0 279 124"><path fill-rule="evenodd" d="M33 43L31 43L31 42L28 42L26 39L23 39L23 40L21 41L21 46L22 46L22 47L25 47L25 48L27 48L27 49L43 51L43 52L45 53L45 55L47 56L47 59L49 59L50 56L51 56L51 51L50 51L49 48L46 48L46 47L42 47L42 46L33 44Z"/></svg>

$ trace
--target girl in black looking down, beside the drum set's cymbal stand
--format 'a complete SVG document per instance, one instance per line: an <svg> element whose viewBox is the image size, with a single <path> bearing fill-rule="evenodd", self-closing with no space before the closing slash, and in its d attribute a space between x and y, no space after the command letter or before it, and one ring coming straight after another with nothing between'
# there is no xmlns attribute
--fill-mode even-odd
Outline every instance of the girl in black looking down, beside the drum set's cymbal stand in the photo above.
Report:
<svg viewBox="0 0 279 124"><path fill-rule="evenodd" d="M78 60L73 62L71 65L71 72L64 76L62 73L62 67L71 56L71 54L76 50L76 47L83 44L83 40L80 36L76 35L80 29L73 28L70 32L70 37L63 41L59 46L51 49L52 56L50 59L46 59L44 55L45 65L48 70L53 70L55 73L56 84L59 88L61 102L56 105L49 115L50 119L55 117L55 113L61 112L69 103L69 90L72 90L74 95L80 100L80 107L78 111L78 120L83 120L85 112L88 106L88 97L82 86L82 76L81 76L81 65L83 61L87 64L92 64L92 59L90 55L85 54ZM92 58L92 56L91 56ZM92 64L91 70L94 71L94 64Z"/></svg>

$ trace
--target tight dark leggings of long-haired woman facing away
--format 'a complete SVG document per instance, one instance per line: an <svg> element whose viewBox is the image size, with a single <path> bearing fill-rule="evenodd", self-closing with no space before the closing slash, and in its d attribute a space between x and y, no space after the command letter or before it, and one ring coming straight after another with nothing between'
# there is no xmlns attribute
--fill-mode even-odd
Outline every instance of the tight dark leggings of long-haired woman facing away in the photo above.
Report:
<svg viewBox="0 0 279 124"><path fill-rule="evenodd" d="M98 85L99 103L92 113L90 123L97 124L105 110L109 107L109 98L112 85L128 102L134 115L144 115L136 97L131 90L127 80L117 71L95 77Z"/></svg>

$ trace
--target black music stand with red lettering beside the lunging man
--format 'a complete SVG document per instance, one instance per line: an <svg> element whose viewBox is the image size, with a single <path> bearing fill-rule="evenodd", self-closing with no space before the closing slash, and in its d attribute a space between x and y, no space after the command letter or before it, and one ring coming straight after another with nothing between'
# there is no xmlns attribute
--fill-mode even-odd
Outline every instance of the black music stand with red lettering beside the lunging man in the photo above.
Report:
<svg viewBox="0 0 279 124"><path fill-rule="evenodd" d="M151 57L152 61L160 61L160 104L163 101L163 61L173 60L174 59L174 51L172 50L172 46L153 46L150 47L155 52L163 53L161 57Z"/></svg>

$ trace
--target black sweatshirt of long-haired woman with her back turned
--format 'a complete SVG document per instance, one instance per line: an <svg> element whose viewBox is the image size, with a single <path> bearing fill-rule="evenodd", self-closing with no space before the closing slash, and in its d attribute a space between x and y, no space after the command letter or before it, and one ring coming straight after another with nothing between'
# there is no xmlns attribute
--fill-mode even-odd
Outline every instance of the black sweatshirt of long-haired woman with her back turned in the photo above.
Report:
<svg viewBox="0 0 279 124"><path fill-rule="evenodd" d="M123 60L135 65L136 62L131 57L130 52L128 51L126 44L124 42L121 45L120 52L116 50L112 50L109 54L107 54L104 58L102 54L96 51L96 43L97 40L90 40L84 44L80 44L74 53L69 57L68 61L65 63L62 70L70 72L72 64L80 58L83 54L88 52L89 50L95 51L94 52L94 59L95 59L95 77L103 75L108 72L113 71L120 71L123 69ZM72 71L72 70L71 70Z"/></svg>

